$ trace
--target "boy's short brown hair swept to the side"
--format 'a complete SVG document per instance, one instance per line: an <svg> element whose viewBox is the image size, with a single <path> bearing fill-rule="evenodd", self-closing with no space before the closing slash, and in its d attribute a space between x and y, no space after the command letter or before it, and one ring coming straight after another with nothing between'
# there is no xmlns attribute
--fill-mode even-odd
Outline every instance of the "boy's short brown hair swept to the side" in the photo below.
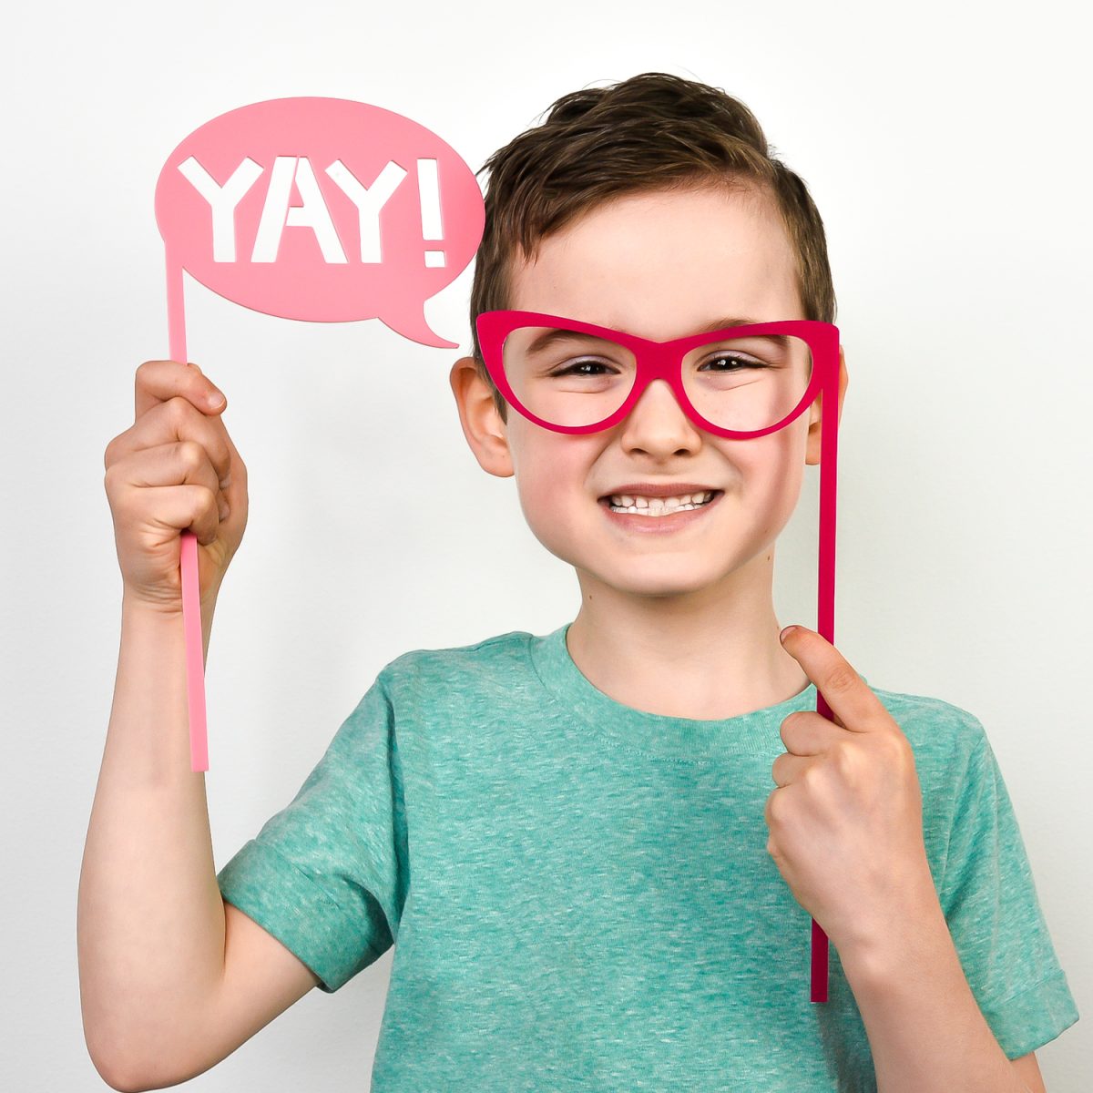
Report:
<svg viewBox="0 0 1093 1093"><path fill-rule="evenodd" d="M752 111L719 87L667 72L643 72L609 87L583 89L550 106L543 125L498 149L489 169L485 228L471 286L471 355L507 421L482 362L474 320L506 309L512 260L532 261L539 240L609 198L640 190L749 186L777 202L797 256L804 317L835 320L835 290L823 221L804 183L774 157Z"/></svg>

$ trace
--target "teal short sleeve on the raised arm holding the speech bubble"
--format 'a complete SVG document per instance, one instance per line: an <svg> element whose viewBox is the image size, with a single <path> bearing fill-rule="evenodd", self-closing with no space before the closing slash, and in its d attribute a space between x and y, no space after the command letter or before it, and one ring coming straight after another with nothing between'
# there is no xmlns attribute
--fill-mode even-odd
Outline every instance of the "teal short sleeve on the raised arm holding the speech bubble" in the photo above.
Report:
<svg viewBox="0 0 1093 1093"><path fill-rule="evenodd" d="M406 848L395 718L380 672L293 800L216 880L227 903L332 994L393 944Z"/></svg>

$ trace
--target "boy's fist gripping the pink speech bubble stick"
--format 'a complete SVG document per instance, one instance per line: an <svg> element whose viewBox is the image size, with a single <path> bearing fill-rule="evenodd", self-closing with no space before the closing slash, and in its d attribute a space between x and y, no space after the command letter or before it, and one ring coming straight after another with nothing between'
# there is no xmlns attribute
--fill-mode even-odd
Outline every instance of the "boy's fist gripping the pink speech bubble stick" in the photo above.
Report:
<svg viewBox="0 0 1093 1093"><path fill-rule="evenodd" d="M106 446L106 496L125 597L181 613L181 532L198 543L201 602L214 600L247 525L247 468L220 393L196 364L145 361L133 424ZM223 485L227 482L227 485ZM226 512L225 512L226 509Z"/></svg>

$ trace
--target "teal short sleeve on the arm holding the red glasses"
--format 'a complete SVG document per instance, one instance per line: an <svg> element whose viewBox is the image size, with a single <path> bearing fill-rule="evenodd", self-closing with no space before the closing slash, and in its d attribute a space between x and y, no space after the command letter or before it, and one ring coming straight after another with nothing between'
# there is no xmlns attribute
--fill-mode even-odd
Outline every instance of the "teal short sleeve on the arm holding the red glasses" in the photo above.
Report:
<svg viewBox="0 0 1093 1093"><path fill-rule="evenodd" d="M990 742L977 736L957 795L940 902L964 974L1007 1058L1078 1021Z"/></svg>

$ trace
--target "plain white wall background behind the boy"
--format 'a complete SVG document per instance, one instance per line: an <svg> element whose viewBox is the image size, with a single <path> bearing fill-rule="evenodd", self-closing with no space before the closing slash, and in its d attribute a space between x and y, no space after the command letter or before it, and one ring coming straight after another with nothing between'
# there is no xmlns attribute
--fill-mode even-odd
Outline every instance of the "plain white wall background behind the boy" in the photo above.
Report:
<svg viewBox="0 0 1093 1093"><path fill-rule="evenodd" d="M9 15L0 1084L104 1088L75 953L120 621L103 453L132 422L137 365L167 355L164 160L236 106L328 95L413 118L477 171L560 95L661 70L742 98L824 218L850 375L836 645L872 684L987 727L1084 1014L1042 1069L1051 1093L1088 1089L1093 329L1076 10L69 0ZM250 472L207 671L218 868L389 660L576 613L572 569L459 427L447 374L470 346L470 283L469 268L425 309L458 351L187 283L189 356L226 392ZM783 623L815 625L816 474L779 546ZM390 956L312 991L193 1088L366 1089Z"/></svg>

